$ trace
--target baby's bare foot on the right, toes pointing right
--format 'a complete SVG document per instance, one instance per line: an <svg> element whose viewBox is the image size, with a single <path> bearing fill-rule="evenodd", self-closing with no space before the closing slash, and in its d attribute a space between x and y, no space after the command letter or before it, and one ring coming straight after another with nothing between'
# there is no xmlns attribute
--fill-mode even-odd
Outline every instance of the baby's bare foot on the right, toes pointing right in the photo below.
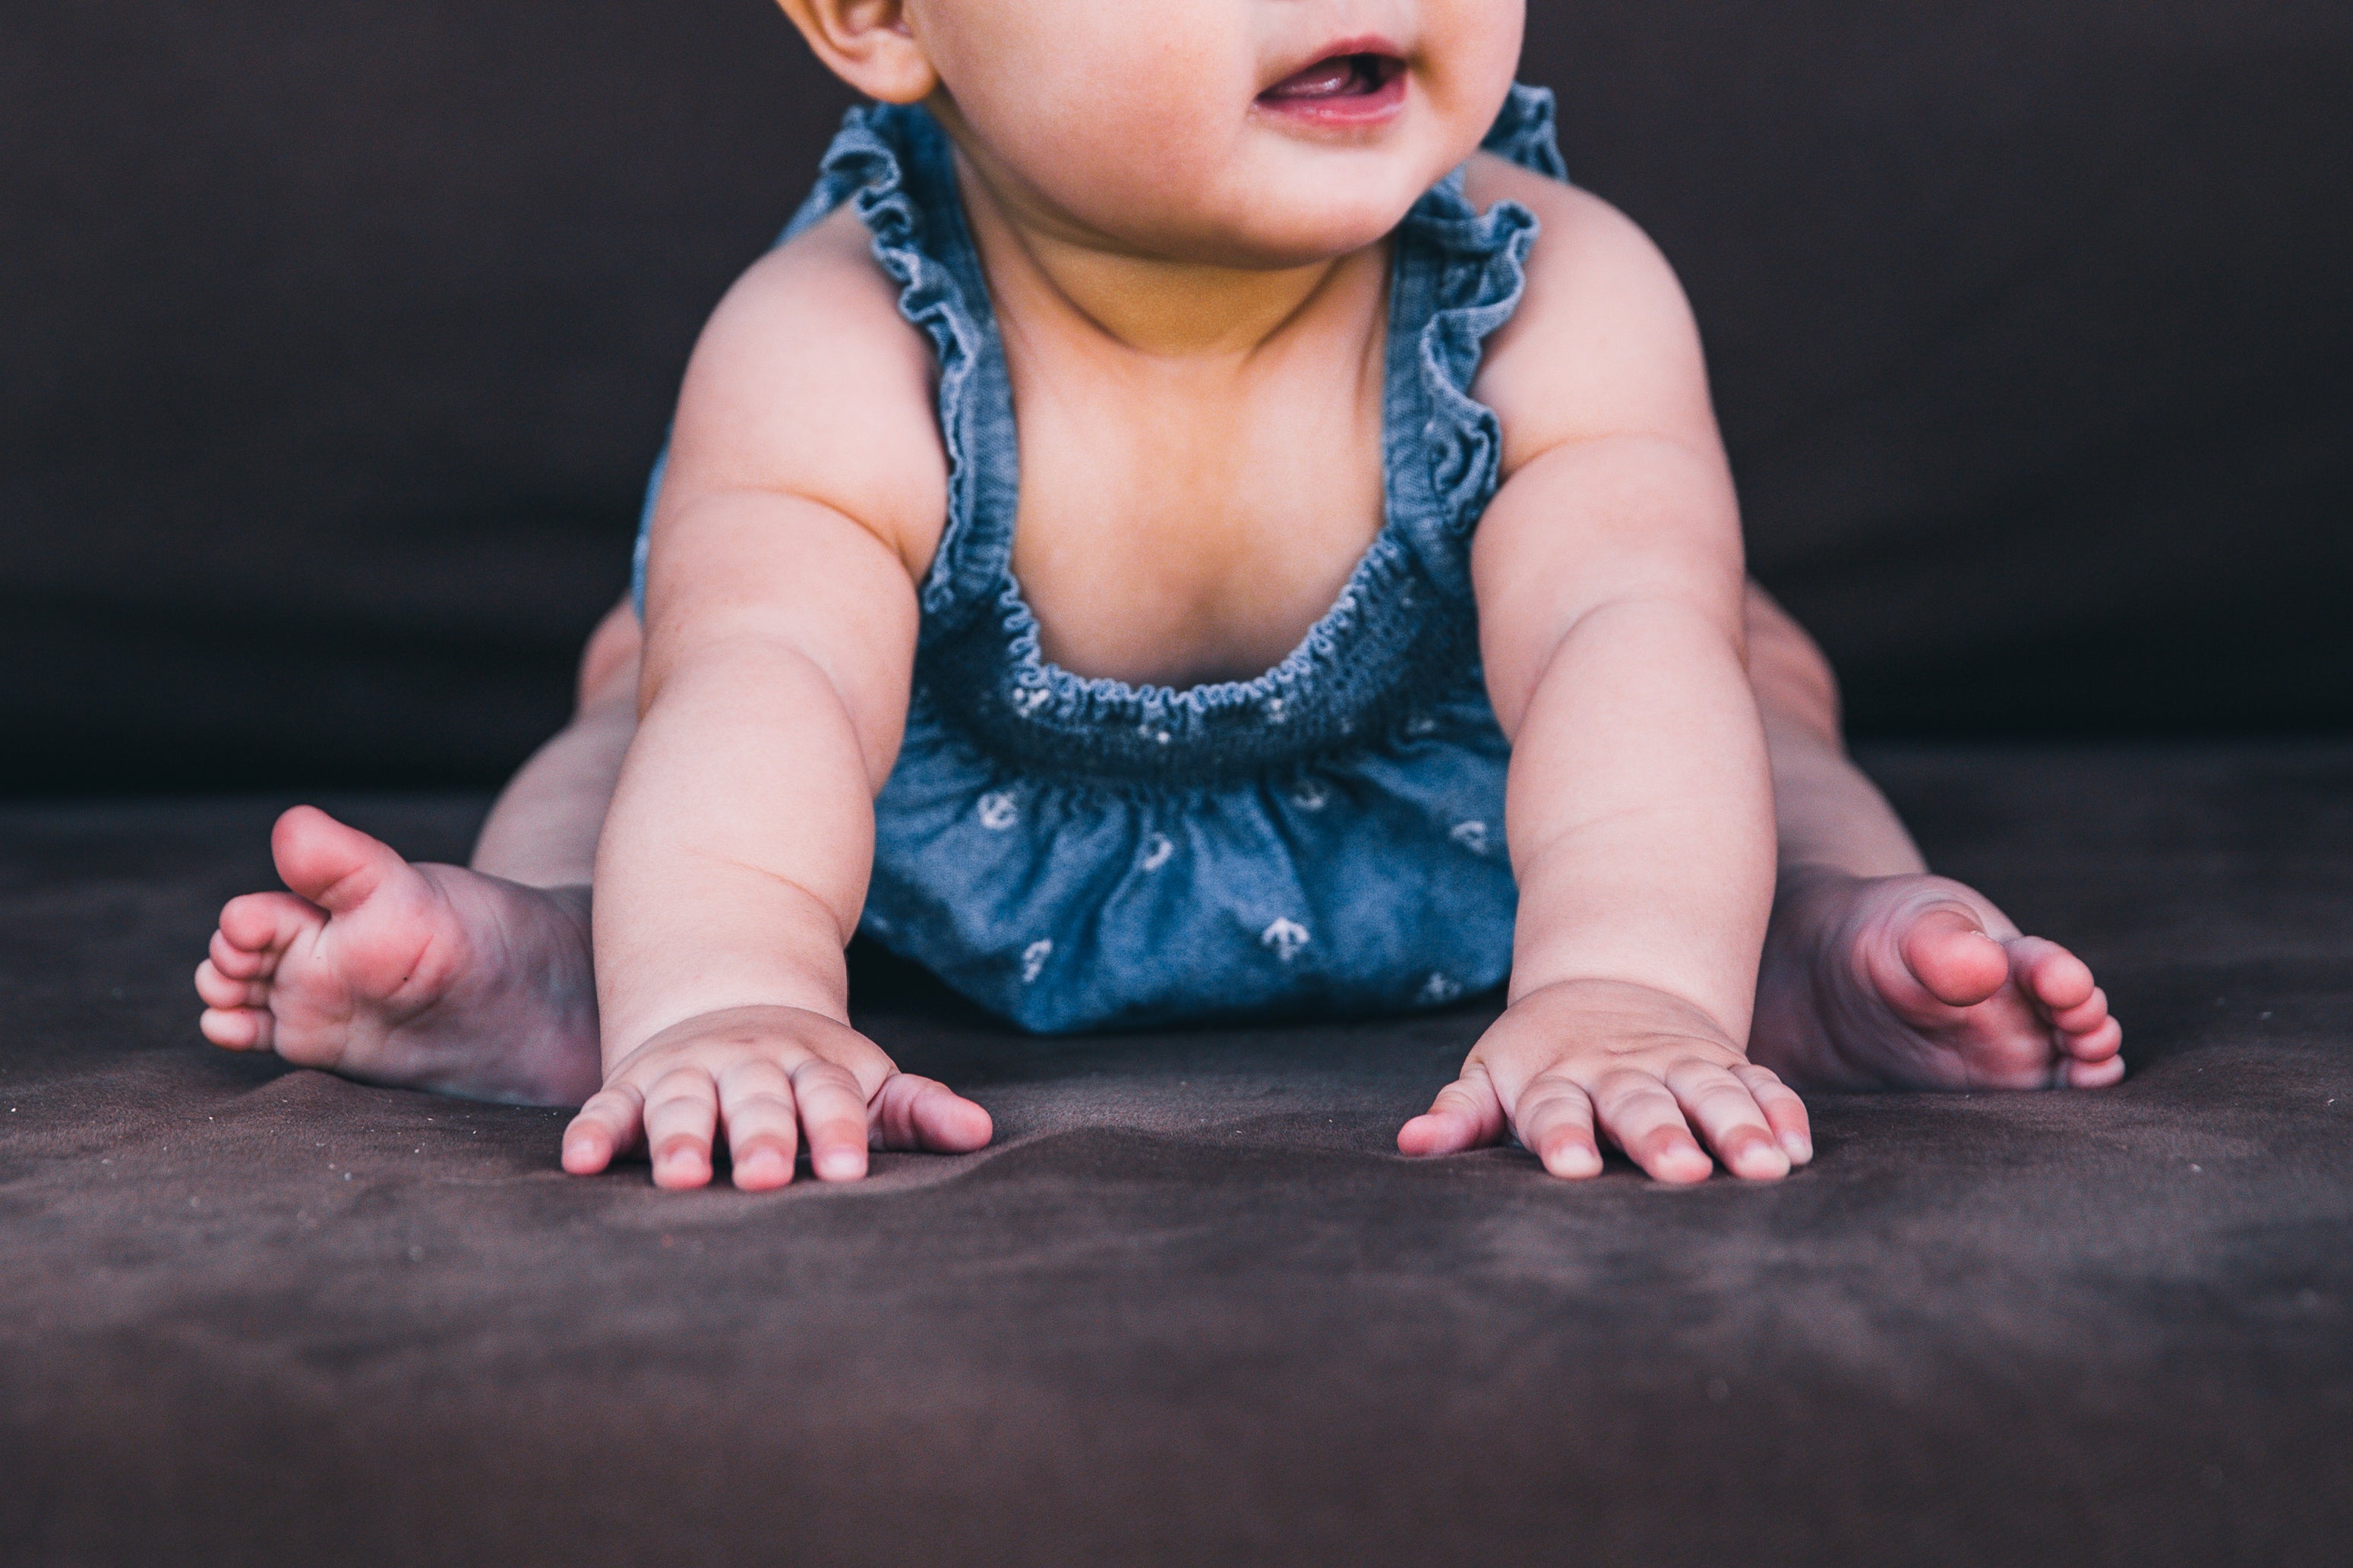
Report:
<svg viewBox="0 0 2353 1568"><path fill-rule="evenodd" d="M1814 1088L2099 1088L2125 1030L2073 952L1948 877L1781 879L1748 1056Z"/></svg>

